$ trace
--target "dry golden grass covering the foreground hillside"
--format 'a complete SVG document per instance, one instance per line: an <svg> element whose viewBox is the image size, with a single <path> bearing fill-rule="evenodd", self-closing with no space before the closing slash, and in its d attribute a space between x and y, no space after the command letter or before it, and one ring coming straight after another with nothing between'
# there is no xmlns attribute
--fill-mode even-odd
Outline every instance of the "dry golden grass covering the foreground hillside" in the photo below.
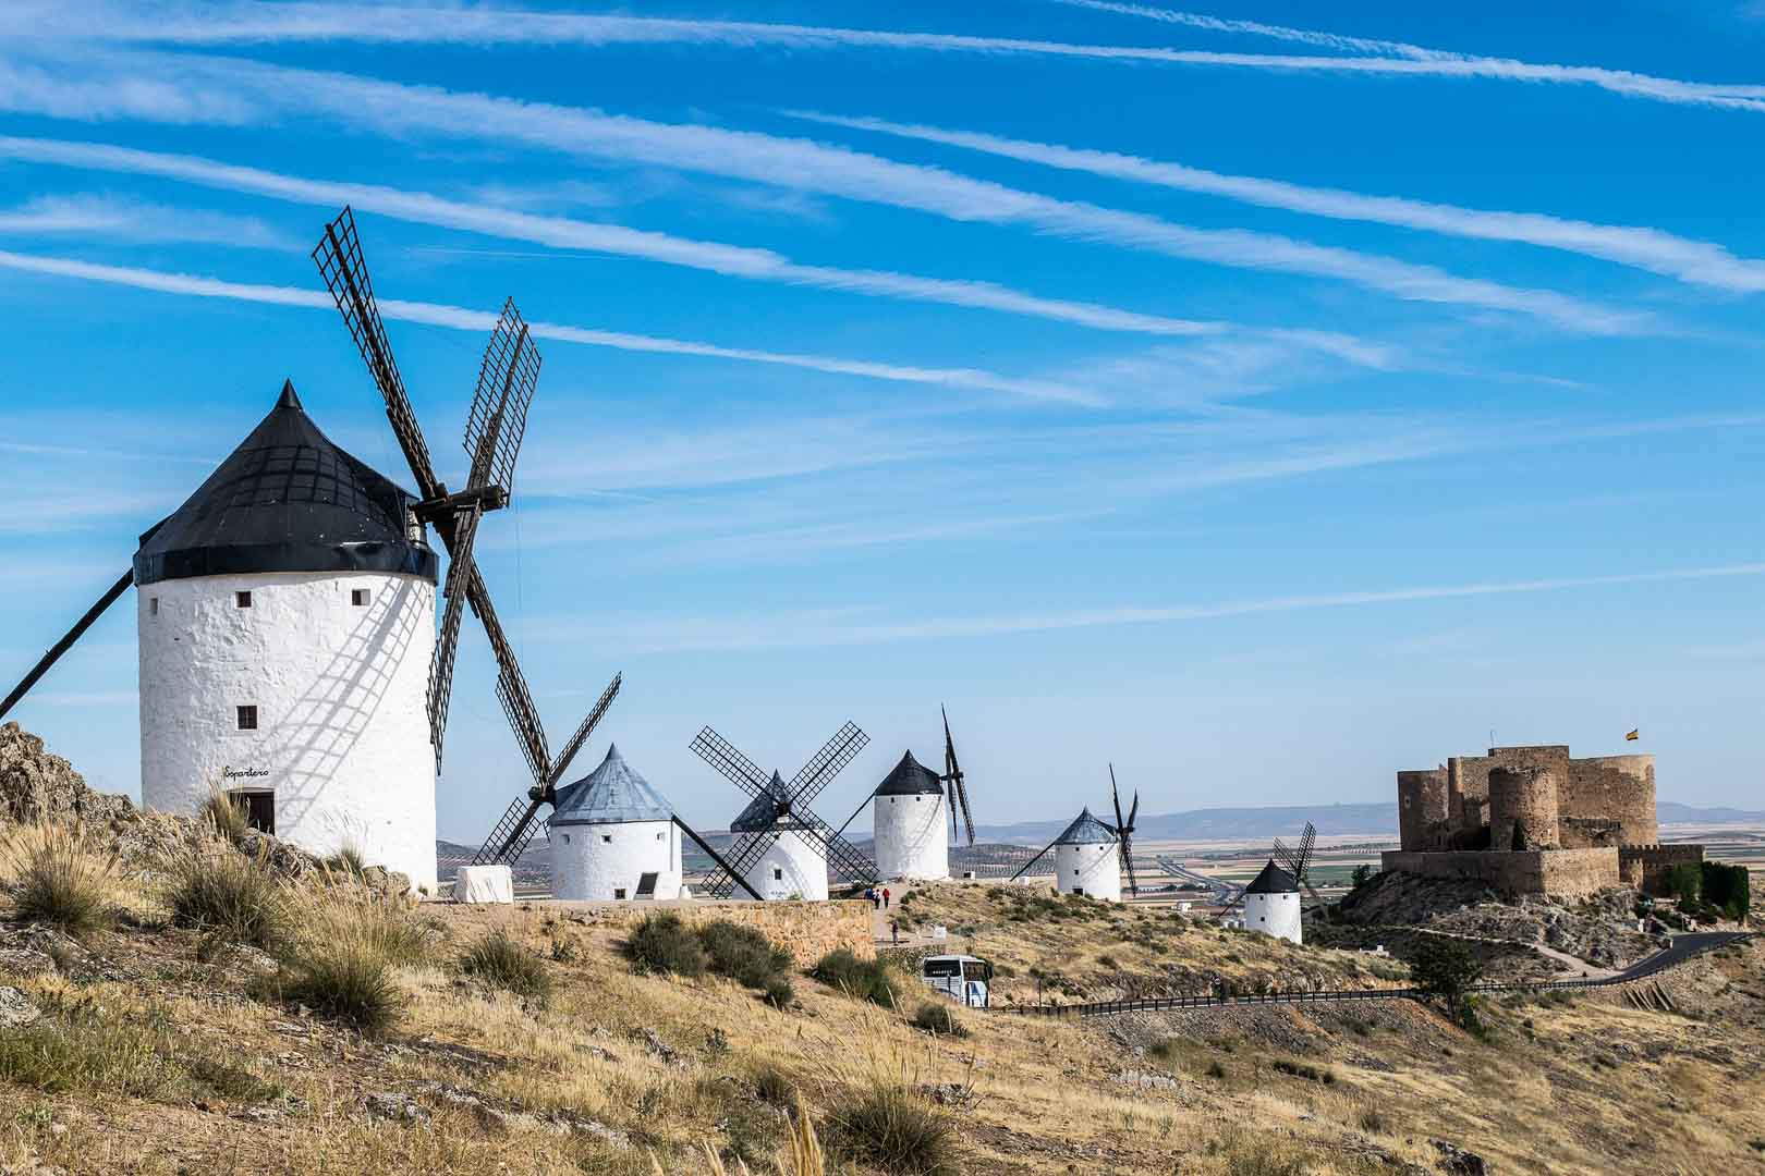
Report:
<svg viewBox="0 0 1765 1176"><path fill-rule="evenodd" d="M81 1070L58 1063L51 1074L67 1068L92 1077L51 1093L53 1081L23 1079L18 1070L18 1077L0 1081L0 1125L12 1132L0 1130L0 1164L25 1171L55 1164L64 1171L184 1167L298 1176L653 1176L658 1167L874 1174L884 1167L877 1157L860 1157L849 1127L874 1125L860 1132L860 1143L905 1132L891 1127L893 1107L875 1116L861 1105L870 1090L958 1118L950 1162L983 1176L1357 1176L1371 1171L1364 1157L1373 1148L1394 1157L1394 1167L1433 1171L1438 1155L1428 1139L1470 1148L1497 1171L1739 1172L1758 1164L1747 1141L1765 1139L1765 1076L1744 1063L1765 1049L1765 1017L1756 1003L1733 994L1724 998L1740 1001L1730 1005L1731 1014L1709 1019L1596 1000L1567 1009L1497 1007L1490 1012L1491 1044L1474 1042L1407 1003L1357 1009L1370 1031L1310 1010L1281 1019L1258 1010L1234 1019L1228 1033L1168 1019L1145 1040L1172 1038L1175 1046L1130 1060L1121 1040L1110 1037L1133 1028L1126 1019L1055 1023L967 1012L971 1035L951 1040L914 1030L898 1010L819 984L800 984L800 1007L778 1010L713 975L634 975L618 950L623 933L593 924L570 927L570 959L545 963L556 984L540 1007L492 986L461 984L452 966L457 949L445 949L443 940L459 945L501 933L540 959L558 934L556 920L544 922L547 908L438 906L409 917L351 904L348 894L344 887L323 887L305 896L314 906L298 908L286 950L295 954L309 940L334 938L327 919L353 924L371 943L425 943L387 970L401 1019L383 1042L362 1042L348 1026L238 1000L244 980L237 968L198 963L198 936L182 929L101 933L95 942L127 973L122 982L76 986L56 977L0 975L0 984L18 984L37 1000L56 1026L64 1024L58 1001L83 996L115 1017L102 1033L146 1033L152 1067L164 1079L146 1090L127 1067L106 1074L95 1065ZM425 926L432 919L445 920L445 936ZM387 920L390 929L372 929L376 920ZM1105 920L1091 924L1094 931L1108 927ZM422 934L413 940L408 926ZM1107 950L1137 966L1137 945L1089 945L1070 938L1077 926L1063 920L1066 938L1027 927L1025 938L1048 934L1063 945L1057 950L1084 959ZM1186 945L1188 934L1181 938ZM1280 959L1273 950L1258 954L1255 942L1230 947L1243 954L1246 968ZM388 961L395 954L376 950ZM1216 950L1202 945L1198 956L1213 957ZM1025 959L1064 963L1029 949ZM1700 991L1716 1000L1724 984L1756 987L1761 961L1765 950L1758 947L1723 961ZM1521 1017L1534 1021L1536 1042L1521 1031ZM708 1040L713 1028L715 1042ZM1230 1042L1230 1053L1221 1042ZM1590 1051L1619 1046L1633 1051L1631 1065L1610 1070L1588 1063ZM111 1053L131 1056L129 1049ZM1719 1061L1724 1056L1735 1061ZM1274 1074L1269 1067L1276 1058L1333 1070L1338 1081L1324 1086ZM1207 1077L1216 1061L1227 1077ZM1174 1086L1124 1084L1124 1065L1170 1074ZM939 1105L928 1095L960 1091L973 1076L981 1081L973 1095L958 1098L960 1107ZM480 1114L424 1093L424 1083L464 1088L521 1121L489 1125ZM265 1093L277 1090L284 1093ZM360 1097L372 1090L415 1093L432 1123L367 1120ZM272 1123L192 1109L192 1100L214 1098L286 1109ZM558 1134L554 1114L567 1123L598 1123L625 1143L584 1130ZM1227 1125L1236 1121L1266 1130L1234 1132ZM51 1132L51 1123L67 1130ZM826 1155L819 1155L822 1144Z"/></svg>

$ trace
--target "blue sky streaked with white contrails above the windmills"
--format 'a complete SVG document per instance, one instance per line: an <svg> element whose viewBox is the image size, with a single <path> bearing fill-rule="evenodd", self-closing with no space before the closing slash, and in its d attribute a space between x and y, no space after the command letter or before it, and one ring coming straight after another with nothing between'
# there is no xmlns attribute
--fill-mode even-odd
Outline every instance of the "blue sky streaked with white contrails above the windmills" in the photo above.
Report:
<svg viewBox="0 0 1765 1176"><path fill-rule="evenodd" d="M704 825L948 703L988 823L1384 800L1500 742L1760 800L1765 7L0 14L0 674L291 377L409 481L307 257L357 208L443 478L545 368L480 559L561 742ZM404 305L390 307L388 300ZM134 790L118 607L14 714ZM468 624L439 783L526 786Z"/></svg>

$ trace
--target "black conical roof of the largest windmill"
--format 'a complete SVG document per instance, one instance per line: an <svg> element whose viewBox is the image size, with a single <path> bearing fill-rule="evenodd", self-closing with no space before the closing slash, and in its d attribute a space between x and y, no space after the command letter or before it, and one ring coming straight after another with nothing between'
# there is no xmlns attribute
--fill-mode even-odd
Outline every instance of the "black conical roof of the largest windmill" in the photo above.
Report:
<svg viewBox="0 0 1765 1176"><path fill-rule="evenodd" d="M141 538L134 582L254 571L387 571L434 582L434 550L406 529L411 502L319 432L284 383L231 457Z"/></svg>

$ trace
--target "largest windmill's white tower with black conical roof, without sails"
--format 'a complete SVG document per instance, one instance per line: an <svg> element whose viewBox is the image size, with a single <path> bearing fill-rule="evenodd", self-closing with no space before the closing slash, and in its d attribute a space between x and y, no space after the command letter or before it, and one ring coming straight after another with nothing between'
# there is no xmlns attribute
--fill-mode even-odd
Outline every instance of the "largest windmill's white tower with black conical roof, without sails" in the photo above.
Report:
<svg viewBox="0 0 1765 1176"><path fill-rule="evenodd" d="M252 825L436 885L436 554L411 495L339 450L293 384L141 540L141 800L237 793Z"/></svg>

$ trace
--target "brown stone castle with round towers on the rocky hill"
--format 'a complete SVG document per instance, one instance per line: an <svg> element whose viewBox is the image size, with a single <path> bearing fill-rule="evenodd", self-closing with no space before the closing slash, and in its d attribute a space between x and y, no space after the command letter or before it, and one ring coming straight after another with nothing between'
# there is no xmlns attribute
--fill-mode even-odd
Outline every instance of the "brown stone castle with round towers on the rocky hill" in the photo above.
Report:
<svg viewBox="0 0 1765 1176"><path fill-rule="evenodd" d="M1652 755L1576 760L1558 744L1398 772L1398 832L1387 871L1507 894L1656 892L1668 869L1703 860L1701 845L1659 845Z"/></svg>

